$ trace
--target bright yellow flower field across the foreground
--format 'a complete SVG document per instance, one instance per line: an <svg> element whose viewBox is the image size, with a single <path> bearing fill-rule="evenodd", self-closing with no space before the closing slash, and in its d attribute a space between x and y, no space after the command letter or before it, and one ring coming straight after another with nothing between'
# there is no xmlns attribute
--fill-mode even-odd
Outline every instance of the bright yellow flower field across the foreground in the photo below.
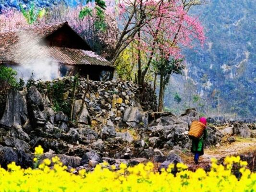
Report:
<svg viewBox="0 0 256 192"><path fill-rule="evenodd" d="M41 148L37 148L37 153ZM34 159L37 161L37 159ZM49 168L53 163L53 168ZM240 168L242 177L238 180L232 174L232 164ZM225 166L212 160L211 171L199 168L195 172L177 164L179 172L171 174L171 165L161 174L153 171L152 163L128 167L121 164L106 168L107 163L98 165L93 172L80 170L73 174L62 166L58 157L45 159L37 169L22 169L12 163L8 170L0 168L0 192L254 192L256 173L245 168L240 157L226 157Z"/></svg>

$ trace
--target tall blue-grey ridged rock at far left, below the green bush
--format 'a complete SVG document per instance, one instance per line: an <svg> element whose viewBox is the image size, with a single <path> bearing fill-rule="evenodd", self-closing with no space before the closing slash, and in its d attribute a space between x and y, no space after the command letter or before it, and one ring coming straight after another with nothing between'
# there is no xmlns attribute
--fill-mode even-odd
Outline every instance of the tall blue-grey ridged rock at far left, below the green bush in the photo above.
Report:
<svg viewBox="0 0 256 192"><path fill-rule="evenodd" d="M11 128L14 124L24 125L27 120L28 112L25 99L18 91L10 90L0 125Z"/></svg>

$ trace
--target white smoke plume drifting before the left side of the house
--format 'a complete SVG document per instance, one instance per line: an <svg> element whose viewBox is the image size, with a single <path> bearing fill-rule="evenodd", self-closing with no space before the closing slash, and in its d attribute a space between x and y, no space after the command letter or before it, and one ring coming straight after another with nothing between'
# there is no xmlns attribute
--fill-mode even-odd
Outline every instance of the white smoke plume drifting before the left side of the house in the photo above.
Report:
<svg viewBox="0 0 256 192"><path fill-rule="evenodd" d="M49 81L60 77L60 64L51 58L42 39L35 33L18 32L19 42L14 50L14 61L18 64L11 67L17 71L17 78L25 82L32 76L35 80Z"/></svg>

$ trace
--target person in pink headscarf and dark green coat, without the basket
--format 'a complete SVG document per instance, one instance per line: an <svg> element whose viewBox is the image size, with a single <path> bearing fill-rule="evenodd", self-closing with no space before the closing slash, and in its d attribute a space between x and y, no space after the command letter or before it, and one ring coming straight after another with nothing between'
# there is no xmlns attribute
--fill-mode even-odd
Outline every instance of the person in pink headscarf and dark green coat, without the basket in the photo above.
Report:
<svg viewBox="0 0 256 192"><path fill-rule="evenodd" d="M207 126L207 119L205 117L201 117L199 120L205 126ZM207 138L207 129L204 130L203 135L200 139L192 140L191 152L195 154L194 162L198 164L199 156L204 155L204 140Z"/></svg>

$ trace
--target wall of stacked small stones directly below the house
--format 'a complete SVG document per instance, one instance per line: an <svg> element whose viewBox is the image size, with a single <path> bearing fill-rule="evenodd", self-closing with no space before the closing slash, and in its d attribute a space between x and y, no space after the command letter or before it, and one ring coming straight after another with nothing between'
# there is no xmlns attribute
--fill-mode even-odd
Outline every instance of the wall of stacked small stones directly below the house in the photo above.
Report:
<svg viewBox="0 0 256 192"><path fill-rule="evenodd" d="M89 123L94 127L103 124L110 126L120 124L120 126L124 126L122 117L128 108L137 108L142 113L143 111L152 112L157 110L156 96L150 85L146 85L145 91L141 94L140 87L132 82L122 80L97 82L80 78L74 95L72 88L72 84L75 81L74 78L56 79L54 83L60 81L65 85L63 98L71 101L69 102L71 103L71 108L73 100L75 101L75 111L80 108L86 93L84 104L86 109L84 110L88 115L88 122L85 120L85 124ZM36 87L43 96L47 96L47 88L52 84L52 82L39 82ZM75 119L75 116L73 116L73 119ZM140 122L137 123L139 124Z"/></svg>

